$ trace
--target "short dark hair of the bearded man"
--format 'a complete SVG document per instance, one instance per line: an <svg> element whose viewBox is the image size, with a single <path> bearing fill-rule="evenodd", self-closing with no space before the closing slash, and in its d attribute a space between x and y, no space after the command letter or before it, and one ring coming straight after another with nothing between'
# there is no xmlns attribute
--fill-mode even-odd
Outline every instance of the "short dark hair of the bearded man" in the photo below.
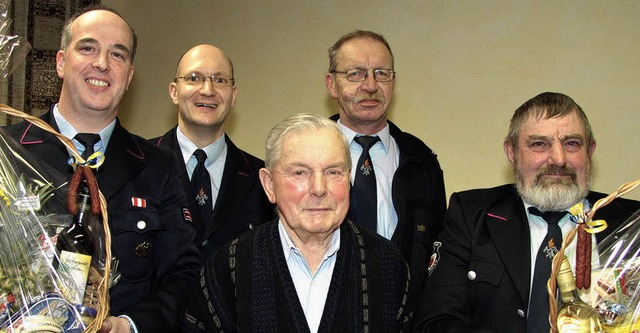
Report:
<svg viewBox="0 0 640 333"><path fill-rule="evenodd" d="M541 119L542 117L544 117L544 119L560 118L571 112L578 114L578 118L584 126L587 144L595 142L589 119L584 111L582 111L580 105L571 99L571 97L557 92L541 93L517 108L511 117L509 132L507 133L505 141L509 142L514 149L517 149L520 127L529 117L535 117L537 119Z"/></svg>

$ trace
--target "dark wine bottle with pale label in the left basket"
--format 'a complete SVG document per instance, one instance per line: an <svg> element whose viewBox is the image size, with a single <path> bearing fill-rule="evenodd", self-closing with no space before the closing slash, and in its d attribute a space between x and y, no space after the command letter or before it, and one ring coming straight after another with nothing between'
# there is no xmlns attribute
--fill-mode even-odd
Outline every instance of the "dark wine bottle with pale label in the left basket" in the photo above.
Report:
<svg viewBox="0 0 640 333"><path fill-rule="evenodd" d="M87 278L91 268L91 258L95 246L87 225L93 218L89 187L83 181L78 187L78 212L73 223L58 234L56 248L59 255L58 271L65 285L62 290L67 298L75 304L82 304Z"/></svg>

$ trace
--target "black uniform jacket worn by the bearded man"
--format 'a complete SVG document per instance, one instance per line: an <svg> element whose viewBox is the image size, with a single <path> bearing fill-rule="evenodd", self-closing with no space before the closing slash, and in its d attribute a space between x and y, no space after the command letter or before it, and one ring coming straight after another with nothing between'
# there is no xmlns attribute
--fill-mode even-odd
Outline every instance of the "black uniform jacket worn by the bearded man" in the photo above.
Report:
<svg viewBox="0 0 640 333"><path fill-rule="evenodd" d="M593 205L605 195L590 192ZM616 199L594 219L609 227L601 241L640 202ZM513 184L454 193L438 241L441 255L420 298L421 332L525 332L531 276L529 223ZM475 274L470 278L470 271Z"/></svg>

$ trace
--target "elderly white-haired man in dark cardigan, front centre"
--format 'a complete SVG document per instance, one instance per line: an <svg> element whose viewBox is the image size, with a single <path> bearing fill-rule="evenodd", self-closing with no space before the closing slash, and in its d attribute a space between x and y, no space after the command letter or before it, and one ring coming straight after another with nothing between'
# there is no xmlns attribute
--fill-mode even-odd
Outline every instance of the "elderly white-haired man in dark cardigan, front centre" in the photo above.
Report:
<svg viewBox="0 0 640 333"><path fill-rule="evenodd" d="M398 249L346 220L349 145L331 120L286 118L267 138L260 181L278 218L207 262L187 331L399 332L410 329Z"/></svg>

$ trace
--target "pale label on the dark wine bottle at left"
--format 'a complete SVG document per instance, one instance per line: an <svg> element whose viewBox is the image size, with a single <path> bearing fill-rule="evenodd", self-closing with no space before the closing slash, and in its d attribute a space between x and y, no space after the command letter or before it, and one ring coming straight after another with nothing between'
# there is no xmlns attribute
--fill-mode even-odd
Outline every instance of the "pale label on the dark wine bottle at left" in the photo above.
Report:
<svg viewBox="0 0 640 333"><path fill-rule="evenodd" d="M70 301L74 304L82 304L84 291L87 286L89 269L91 268L91 256L82 253L61 251L60 263L64 267L71 281L65 286ZM63 275L67 275L63 274Z"/></svg>

